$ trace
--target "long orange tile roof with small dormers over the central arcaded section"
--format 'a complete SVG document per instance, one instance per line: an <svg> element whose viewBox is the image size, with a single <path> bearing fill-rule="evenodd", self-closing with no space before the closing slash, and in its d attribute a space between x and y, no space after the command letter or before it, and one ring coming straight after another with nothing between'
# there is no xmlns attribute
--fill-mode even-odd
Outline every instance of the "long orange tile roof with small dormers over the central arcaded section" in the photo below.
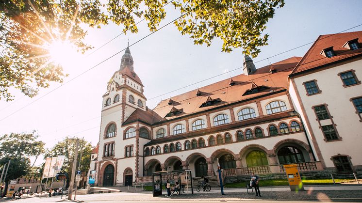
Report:
<svg viewBox="0 0 362 203"><path fill-rule="evenodd" d="M272 66L277 70L276 73L269 73L270 65L259 68L256 72L250 76L241 74L232 78L235 85L230 86L230 79L224 79L214 84L192 90L187 93L183 93L174 97L171 97L174 101L173 106L168 105L170 99L162 100L153 111L159 115L160 118L165 118L165 115L170 112L172 108L183 109L182 114L176 116L166 117L166 119L173 119L186 114L203 111L205 109L212 109L216 106L223 104L233 103L236 101L246 100L252 97L268 94L269 91L279 91L286 89L288 75L292 72L293 68L299 62L301 57L291 57L280 62L273 63ZM252 84L254 83L254 84ZM243 96L250 86L266 86L270 89L264 90L256 94L248 94ZM200 96L196 94L201 92ZM212 99L219 98L221 102L208 107L200 108L208 97ZM160 119L161 120L161 119Z"/></svg>

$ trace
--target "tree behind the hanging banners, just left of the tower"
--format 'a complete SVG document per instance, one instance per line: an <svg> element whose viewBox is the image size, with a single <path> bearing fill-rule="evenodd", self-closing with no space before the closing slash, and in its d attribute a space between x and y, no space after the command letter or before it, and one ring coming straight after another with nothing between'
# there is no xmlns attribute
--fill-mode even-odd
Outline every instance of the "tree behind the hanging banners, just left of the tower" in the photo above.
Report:
<svg viewBox="0 0 362 203"><path fill-rule="evenodd" d="M44 159L46 157L64 155L66 156L64 160L64 165L62 168L62 172L68 173L68 176L71 177L72 172L72 164L73 157L75 154L76 148L76 138L66 137L63 141L56 143L53 148L51 148L48 152L45 153ZM92 153L92 145L90 142L85 140L79 140L79 151L78 151L78 160L77 160L77 170L81 170L82 172L88 172L90 167L90 156ZM79 156L82 153L81 159L81 168L78 168L79 164ZM67 180L67 186L69 186L69 180Z"/></svg>

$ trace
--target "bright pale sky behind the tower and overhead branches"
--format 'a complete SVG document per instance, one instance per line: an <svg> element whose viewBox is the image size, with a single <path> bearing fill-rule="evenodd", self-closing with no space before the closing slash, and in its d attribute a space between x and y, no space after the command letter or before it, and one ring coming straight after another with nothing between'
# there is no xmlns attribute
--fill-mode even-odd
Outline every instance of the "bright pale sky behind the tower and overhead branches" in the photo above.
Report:
<svg viewBox="0 0 362 203"><path fill-rule="evenodd" d="M285 6L277 9L266 25L269 41L253 59L256 67L292 56L301 57L319 35L362 24L361 7L361 0L285 0ZM165 9L167 16L160 27L179 15L171 4ZM119 69L124 51L97 64L125 49L127 41L132 45L150 32L143 21L138 33L122 34L101 47L119 35L122 27L109 24L101 29L86 29L85 42L94 48L82 56L65 60L65 72L69 76L63 84L51 83L33 98L13 90L14 101L0 100L0 135L36 130L39 140L44 141L47 148L66 136L84 138L93 146L97 144L102 95L106 92L107 82ZM362 26L348 31L362 31ZM145 86L148 108L153 109L162 99L242 74L242 49L224 53L221 47L222 42L218 39L211 47L194 45L193 40L188 35L181 35L173 24L132 45L134 71ZM207 78L212 79L205 80ZM201 80L205 81L199 82ZM193 83L197 84L182 88ZM36 165L42 162L39 159Z"/></svg>

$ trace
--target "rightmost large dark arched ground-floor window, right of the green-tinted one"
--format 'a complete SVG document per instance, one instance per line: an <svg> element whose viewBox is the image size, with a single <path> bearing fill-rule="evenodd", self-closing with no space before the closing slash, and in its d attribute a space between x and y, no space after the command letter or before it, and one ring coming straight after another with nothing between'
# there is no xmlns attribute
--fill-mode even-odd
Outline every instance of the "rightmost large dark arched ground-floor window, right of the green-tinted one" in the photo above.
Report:
<svg viewBox="0 0 362 203"><path fill-rule="evenodd" d="M286 146L278 151L280 164L304 162L303 153L296 147Z"/></svg>

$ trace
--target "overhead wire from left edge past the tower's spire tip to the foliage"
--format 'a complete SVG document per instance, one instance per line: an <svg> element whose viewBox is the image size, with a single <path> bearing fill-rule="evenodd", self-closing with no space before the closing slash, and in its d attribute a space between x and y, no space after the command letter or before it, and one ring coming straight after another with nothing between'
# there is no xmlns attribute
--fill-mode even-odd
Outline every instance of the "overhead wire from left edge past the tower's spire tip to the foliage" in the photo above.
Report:
<svg viewBox="0 0 362 203"><path fill-rule="evenodd" d="M138 40L138 41L136 41L135 43L131 44L129 47L132 47L133 45L135 45L135 44L139 43L140 41L142 41L142 40L146 39L148 36L152 35L153 33L157 32L157 31L160 31L161 29L165 28L165 27L166 27L166 26L168 26L169 24L171 24L171 23L173 23L174 21L176 21L176 20L180 19L182 16L187 15L187 14L188 14L188 13L190 13L191 11L192 11L192 10L190 10L190 11L188 11L188 12L186 12L186 13L182 14L181 16L177 17L176 19L174 19L174 20L172 20L172 21L168 22L167 24L165 24L164 26L160 27L160 28L159 28L159 29L157 29L156 31L153 31L153 32L149 33L148 35L146 35L146 36L142 37L141 39L139 39L139 40ZM88 71L92 70L93 68L95 68L95 67L99 66L99 65L100 65L100 64L102 64L103 62L106 62L106 61L108 61L109 59L111 59L111 58L115 57L116 55L118 55L119 53L123 52L124 50L126 50L126 48L124 48L124 49L122 49L122 50L120 50L120 51L116 52L115 54L113 54L112 56L108 57L107 59L105 59L105 60L103 60L103 61L101 61L101 62L97 63L96 65L92 66L92 67L91 67L91 68L89 68L88 70L86 70L86 71L82 72L81 74L77 75L76 77L74 77L74 78L72 78L72 79L68 80L67 82L63 83L61 86L58 86L57 88L53 89L52 91L48 92L47 94L44 94L43 96L41 96L41 97L39 97L39 98L37 98L37 99L33 100L31 103L29 103L29 104L25 105L24 107L22 107L22 108L20 108L20 109L17 109L17 110L16 110L16 111L14 111L13 113L11 113L11 114L9 114L9 115L5 116L4 118L2 118L2 119L0 120L0 122L1 122L1 121L3 121L4 119L8 118L9 116L11 116L11 115L15 114L16 112L18 112L18 111L20 111L20 110L22 110L22 109L24 109L24 108L28 107L29 105L33 104L34 102L38 101L39 99L41 99L41 98L43 98L43 97L47 96L48 94L50 94L50 93L54 92L55 90L57 90L57 89L61 88L63 85L65 85L65 84L67 84L67 83L69 83L69 82L73 81L73 80L74 80L74 79L76 79L76 78L79 78L79 77L80 77L80 76L82 76L83 74L85 74L85 73L87 73Z"/></svg>

